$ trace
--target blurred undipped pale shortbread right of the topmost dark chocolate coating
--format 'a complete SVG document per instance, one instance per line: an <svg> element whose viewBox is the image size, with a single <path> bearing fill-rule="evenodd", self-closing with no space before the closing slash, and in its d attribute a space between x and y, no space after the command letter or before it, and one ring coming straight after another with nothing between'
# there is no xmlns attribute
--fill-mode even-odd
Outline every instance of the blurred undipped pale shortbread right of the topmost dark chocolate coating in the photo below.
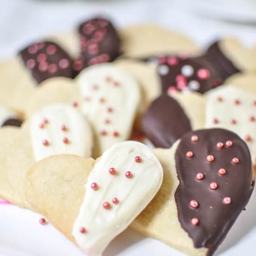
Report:
<svg viewBox="0 0 256 256"><path fill-rule="evenodd" d="M152 24L123 27L119 34L123 53L129 57L198 52L198 48L186 36Z"/></svg>

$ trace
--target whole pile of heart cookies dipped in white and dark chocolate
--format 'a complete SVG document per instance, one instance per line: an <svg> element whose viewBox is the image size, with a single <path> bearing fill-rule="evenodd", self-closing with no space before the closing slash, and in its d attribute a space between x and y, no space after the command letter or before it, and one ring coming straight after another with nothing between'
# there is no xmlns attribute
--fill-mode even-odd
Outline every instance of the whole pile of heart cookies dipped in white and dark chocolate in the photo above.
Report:
<svg viewBox="0 0 256 256"><path fill-rule="evenodd" d="M128 226L213 255L249 201L256 47L96 17L1 62L0 83L0 197L88 255Z"/></svg>

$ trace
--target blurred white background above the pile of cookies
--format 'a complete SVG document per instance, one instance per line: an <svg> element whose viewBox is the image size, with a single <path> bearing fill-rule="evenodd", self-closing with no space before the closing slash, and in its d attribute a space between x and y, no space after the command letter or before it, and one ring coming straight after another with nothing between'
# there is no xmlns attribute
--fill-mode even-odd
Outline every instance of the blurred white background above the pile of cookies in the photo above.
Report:
<svg viewBox="0 0 256 256"><path fill-rule="evenodd" d="M118 27L156 22L202 46L225 35L256 42L256 0L0 0L0 58L95 14L106 14Z"/></svg>

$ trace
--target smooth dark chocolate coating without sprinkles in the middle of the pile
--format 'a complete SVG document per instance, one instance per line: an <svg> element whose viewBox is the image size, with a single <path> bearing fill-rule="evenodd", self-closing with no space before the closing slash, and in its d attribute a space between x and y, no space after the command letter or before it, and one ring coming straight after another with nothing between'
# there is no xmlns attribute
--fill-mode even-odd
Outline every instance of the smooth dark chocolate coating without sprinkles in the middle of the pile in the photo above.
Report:
<svg viewBox="0 0 256 256"><path fill-rule="evenodd" d="M191 125L180 104L164 94L153 101L142 115L141 129L155 147L169 148L191 130Z"/></svg>

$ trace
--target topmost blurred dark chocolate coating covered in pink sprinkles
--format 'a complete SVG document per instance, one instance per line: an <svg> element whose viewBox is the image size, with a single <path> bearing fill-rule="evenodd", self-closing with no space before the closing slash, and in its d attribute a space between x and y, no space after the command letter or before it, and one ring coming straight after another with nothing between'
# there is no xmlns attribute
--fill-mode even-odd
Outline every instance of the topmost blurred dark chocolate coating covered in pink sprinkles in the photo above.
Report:
<svg viewBox="0 0 256 256"><path fill-rule="evenodd" d="M82 68L113 61L120 54L120 38L113 24L97 17L79 26L81 56L74 61L74 72Z"/></svg>

